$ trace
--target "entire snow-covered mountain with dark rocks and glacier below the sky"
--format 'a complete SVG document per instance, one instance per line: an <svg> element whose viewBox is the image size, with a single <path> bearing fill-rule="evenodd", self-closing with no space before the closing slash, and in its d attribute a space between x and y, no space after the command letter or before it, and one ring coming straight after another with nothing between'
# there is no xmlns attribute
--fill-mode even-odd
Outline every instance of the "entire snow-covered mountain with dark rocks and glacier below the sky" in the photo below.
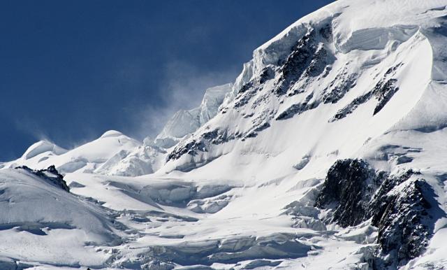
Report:
<svg viewBox="0 0 447 270"><path fill-rule="evenodd" d="M336 1L155 140L32 145L0 268L444 269L446 6Z"/></svg>

